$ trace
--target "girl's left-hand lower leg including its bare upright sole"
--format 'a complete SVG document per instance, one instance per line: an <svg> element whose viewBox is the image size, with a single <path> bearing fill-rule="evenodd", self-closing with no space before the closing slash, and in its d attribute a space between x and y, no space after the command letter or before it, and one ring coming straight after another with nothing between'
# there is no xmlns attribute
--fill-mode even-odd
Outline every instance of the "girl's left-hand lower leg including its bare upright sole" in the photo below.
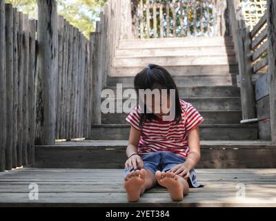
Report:
<svg viewBox="0 0 276 221"><path fill-rule="evenodd" d="M148 169L141 169L128 173L124 178L124 187L126 189L129 202L139 200L146 189L150 189L156 184L155 174Z"/></svg>

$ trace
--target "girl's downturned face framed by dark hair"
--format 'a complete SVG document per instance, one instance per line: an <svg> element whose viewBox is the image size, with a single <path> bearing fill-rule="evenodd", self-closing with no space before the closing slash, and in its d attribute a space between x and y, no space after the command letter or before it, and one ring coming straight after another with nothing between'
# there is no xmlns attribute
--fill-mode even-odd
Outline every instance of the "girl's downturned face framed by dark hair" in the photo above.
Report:
<svg viewBox="0 0 276 221"><path fill-rule="evenodd" d="M144 101L148 110L153 113L156 117L162 118L163 116L170 115L170 95L161 94L155 96L151 95L151 99L144 97Z"/></svg>

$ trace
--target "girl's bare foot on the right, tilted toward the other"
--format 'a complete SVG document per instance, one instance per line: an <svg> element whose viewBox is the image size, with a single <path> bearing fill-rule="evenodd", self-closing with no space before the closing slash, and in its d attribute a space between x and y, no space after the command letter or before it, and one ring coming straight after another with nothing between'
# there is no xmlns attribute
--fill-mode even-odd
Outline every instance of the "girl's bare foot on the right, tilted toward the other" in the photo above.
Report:
<svg viewBox="0 0 276 221"><path fill-rule="evenodd" d="M174 201L181 201L184 198L184 183L182 177L179 177L179 175L175 175L172 172L167 171L162 172L157 171L155 173L155 177L157 179L157 182L168 189L170 193L170 198Z"/></svg>

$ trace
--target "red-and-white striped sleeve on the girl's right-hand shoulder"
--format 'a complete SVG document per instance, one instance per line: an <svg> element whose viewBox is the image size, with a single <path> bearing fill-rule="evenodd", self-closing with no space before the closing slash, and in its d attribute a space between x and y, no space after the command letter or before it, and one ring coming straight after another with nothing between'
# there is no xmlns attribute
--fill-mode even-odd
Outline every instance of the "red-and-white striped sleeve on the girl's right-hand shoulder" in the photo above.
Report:
<svg viewBox="0 0 276 221"><path fill-rule="evenodd" d="M195 129L199 124L204 122L204 118L199 114L199 112L193 107L192 104L188 105L185 116L185 128L187 132L193 131L193 129Z"/></svg>

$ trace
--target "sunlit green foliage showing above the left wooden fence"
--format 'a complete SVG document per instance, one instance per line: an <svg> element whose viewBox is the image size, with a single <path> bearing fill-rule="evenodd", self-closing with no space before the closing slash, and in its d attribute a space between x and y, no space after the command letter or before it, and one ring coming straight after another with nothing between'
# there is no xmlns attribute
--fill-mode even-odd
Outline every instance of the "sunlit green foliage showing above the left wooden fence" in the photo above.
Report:
<svg viewBox="0 0 276 221"><path fill-rule="evenodd" d="M89 37L95 31L95 22L99 20L101 8L107 0L57 0L58 13L72 26L79 28ZM6 0L32 19L37 19L37 0Z"/></svg>

